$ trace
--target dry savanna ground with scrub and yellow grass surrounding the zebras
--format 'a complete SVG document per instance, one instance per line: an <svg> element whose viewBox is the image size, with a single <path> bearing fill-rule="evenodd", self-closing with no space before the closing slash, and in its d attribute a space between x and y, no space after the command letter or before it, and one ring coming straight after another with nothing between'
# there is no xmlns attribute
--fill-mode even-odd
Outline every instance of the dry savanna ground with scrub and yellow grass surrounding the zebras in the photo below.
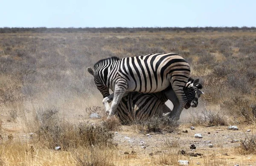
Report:
<svg viewBox="0 0 256 166"><path fill-rule="evenodd" d="M0 165L176 166L177 160L189 160L189 165L256 166L254 29L1 33ZM191 76L204 86L198 107L183 110L179 124L158 118L130 126L116 119L102 124L102 95L87 67L111 56L160 52L189 62ZM90 119L93 112L102 118ZM230 125L239 130L227 130ZM192 152L191 144L203 155L178 153ZM54 150L57 146L61 150Z"/></svg>

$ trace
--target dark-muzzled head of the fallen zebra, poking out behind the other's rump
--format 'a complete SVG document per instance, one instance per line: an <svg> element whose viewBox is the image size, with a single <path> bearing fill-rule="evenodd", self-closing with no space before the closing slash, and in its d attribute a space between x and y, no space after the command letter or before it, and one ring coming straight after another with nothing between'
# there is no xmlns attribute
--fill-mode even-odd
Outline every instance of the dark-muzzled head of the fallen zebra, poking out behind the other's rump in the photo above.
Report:
<svg viewBox="0 0 256 166"><path fill-rule="evenodd" d="M198 98L201 96L201 94L204 94L204 92L200 90L202 88L203 86L201 83L199 83L199 78L196 78L195 80L189 78L186 86L184 87L184 92L188 98L188 103L185 106L186 109L188 109L190 106L193 108L198 106Z"/></svg>

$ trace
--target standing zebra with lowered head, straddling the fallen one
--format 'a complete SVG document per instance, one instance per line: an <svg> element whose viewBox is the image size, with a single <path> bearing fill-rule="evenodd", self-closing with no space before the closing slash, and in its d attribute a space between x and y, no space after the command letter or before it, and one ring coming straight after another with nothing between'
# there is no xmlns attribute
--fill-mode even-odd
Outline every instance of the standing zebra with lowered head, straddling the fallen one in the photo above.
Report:
<svg viewBox="0 0 256 166"><path fill-rule="evenodd" d="M95 71L87 68L93 75L97 89L102 93L105 112L111 118L116 107L126 92L155 93L167 89L164 94L170 100L171 86L178 99L178 106L167 113L167 116L179 119L181 111L187 103L186 93L195 92L195 99L201 94L196 86L184 87L189 79L190 66L185 59L175 53L148 54L137 57L110 57L99 60L93 66ZM109 94L109 89L114 93ZM170 89L170 88L169 88ZM113 100L113 101L112 101ZM108 103L112 101L111 107ZM191 106L197 106L198 101L192 100Z"/></svg>

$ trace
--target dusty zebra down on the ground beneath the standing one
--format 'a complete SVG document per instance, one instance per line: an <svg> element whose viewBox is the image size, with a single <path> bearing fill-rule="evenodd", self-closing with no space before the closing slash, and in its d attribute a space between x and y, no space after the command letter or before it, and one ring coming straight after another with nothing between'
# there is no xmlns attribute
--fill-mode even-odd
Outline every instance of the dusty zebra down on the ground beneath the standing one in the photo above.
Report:
<svg viewBox="0 0 256 166"><path fill-rule="evenodd" d="M198 79L198 78L197 78ZM194 79L189 78L186 83L186 87L189 87ZM198 89L202 89L203 86L198 83ZM169 91L172 93L171 102L174 105L174 108L177 106L177 97L173 90ZM168 106L165 105L167 97L164 92L157 93L138 93L138 92L129 92L125 97L122 97L121 102L116 108L116 115L119 117L123 124L130 123L134 120L144 120L152 116L162 117L166 115L166 112L171 112ZM175 105L176 104L176 105ZM185 105L185 109L189 109L190 102Z"/></svg>

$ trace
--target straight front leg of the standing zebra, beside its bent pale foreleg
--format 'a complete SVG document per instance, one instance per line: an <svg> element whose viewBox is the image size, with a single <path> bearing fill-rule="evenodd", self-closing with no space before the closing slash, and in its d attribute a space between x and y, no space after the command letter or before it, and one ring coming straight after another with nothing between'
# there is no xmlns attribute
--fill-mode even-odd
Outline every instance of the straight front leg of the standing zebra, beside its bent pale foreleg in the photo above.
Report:
<svg viewBox="0 0 256 166"><path fill-rule="evenodd" d="M108 119L111 118L116 113L116 108L120 103L120 101L122 100L122 97L125 95L127 88L128 88L128 85L125 83L116 84L113 101L108 114Z"/></svg>

